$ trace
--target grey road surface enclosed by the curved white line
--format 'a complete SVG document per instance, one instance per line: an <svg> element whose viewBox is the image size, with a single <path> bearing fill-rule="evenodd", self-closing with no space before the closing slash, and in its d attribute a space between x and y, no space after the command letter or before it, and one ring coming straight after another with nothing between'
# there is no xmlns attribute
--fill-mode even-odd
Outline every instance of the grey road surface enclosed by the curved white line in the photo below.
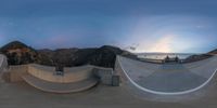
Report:
<svg viewBox="0 0 217 108"><path fill-rule="evenodd" d="M122 69L140 86L156 92L182 92L193 90L215 73L217 57L197 64L155 65L119 57ZM153 66L151 66L153 65Z"/></svg>

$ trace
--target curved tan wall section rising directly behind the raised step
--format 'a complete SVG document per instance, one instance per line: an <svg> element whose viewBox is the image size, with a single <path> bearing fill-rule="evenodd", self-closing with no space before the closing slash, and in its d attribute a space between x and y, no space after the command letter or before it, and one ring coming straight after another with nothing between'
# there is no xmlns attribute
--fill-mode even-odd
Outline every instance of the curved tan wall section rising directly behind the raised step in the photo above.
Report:
<svg viewBox="0 0 217 108"><path fill-rule="evenodd" d="M28 67L28 73L39 79L56 83L78 82L93 76L92 67L90 66L65 68L64 76L56 76L54 69L54 67L33 64Z"/></svg>

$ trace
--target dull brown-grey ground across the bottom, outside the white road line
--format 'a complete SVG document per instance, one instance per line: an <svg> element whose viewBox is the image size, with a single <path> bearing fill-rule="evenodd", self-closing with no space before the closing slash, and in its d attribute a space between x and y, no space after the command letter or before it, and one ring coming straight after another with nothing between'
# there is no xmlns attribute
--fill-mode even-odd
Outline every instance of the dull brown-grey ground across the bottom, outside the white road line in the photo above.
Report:
<svg viewBox="0 0 217 108"><path fill-rule="evenodd" d="M154 102L142 99L131 93L125 84L95 87L74 94L41 92L25 82L0 83L0 108L216 108L217 92L201 98L182 102Z"/></svg>

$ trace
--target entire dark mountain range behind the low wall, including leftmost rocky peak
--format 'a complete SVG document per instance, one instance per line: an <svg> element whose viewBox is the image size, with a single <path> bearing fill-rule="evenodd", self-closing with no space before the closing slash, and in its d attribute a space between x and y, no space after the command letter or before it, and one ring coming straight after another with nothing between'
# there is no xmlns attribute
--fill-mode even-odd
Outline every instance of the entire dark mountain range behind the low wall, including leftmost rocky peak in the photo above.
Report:
<svg viewBox="0 0 217 108"><path fill-rule="evenodd" d="M111 45L88 49L35 50L22 42L13 41L2 46L0 51L8 56L10 65L36 63L47 66L73 67L89 64L114 68L116 55L136 57L127 51Z"/></svg>

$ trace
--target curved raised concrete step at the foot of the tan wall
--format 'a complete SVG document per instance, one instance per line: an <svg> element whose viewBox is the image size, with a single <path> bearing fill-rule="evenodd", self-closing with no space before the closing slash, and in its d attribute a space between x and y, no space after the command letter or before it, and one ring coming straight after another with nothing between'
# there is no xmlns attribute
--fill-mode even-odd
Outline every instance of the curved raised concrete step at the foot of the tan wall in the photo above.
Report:
<svg viewBox="0 0 217 108"><path fill-rule="evenodd" d="M25 75L23 76L23 79L24 81L35 86L36 89L39 89L44 92L52 92L52 93L80 92L80 91L88 90L98 83L98 80L94 78L87 79L79 82L73 82L73 83L53 83L53 82L38 79L31 75Z"/></svg>

